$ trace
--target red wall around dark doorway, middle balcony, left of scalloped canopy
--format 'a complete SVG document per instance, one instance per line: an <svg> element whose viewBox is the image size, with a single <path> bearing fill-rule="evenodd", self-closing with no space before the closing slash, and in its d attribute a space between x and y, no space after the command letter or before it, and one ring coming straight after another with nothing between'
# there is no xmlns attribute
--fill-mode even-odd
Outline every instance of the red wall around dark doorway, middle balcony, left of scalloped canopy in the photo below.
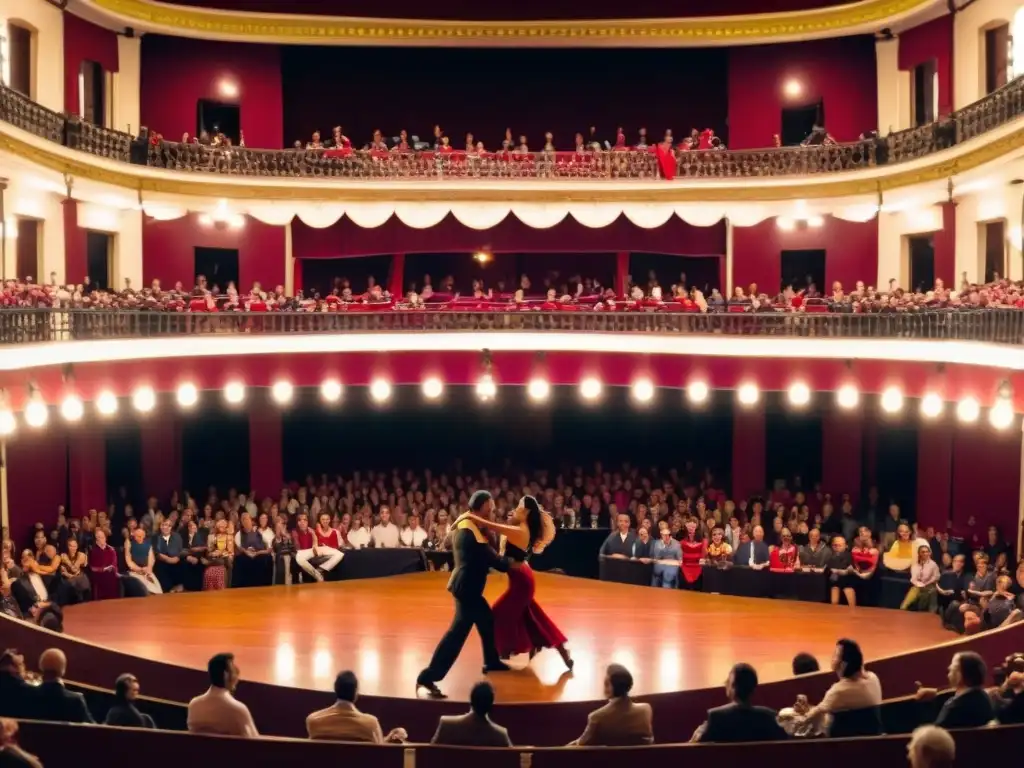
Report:
<svg viewBox="0 0 1024 768"><path fill-rule="evenodd" d="M237 248L239 290L259 281L264 290L285 283L285 227L246 217L246 225L204 226L196 215L174 221L142 221L142 283L160 280L165 287L196 283L196 248Z"/></svg>

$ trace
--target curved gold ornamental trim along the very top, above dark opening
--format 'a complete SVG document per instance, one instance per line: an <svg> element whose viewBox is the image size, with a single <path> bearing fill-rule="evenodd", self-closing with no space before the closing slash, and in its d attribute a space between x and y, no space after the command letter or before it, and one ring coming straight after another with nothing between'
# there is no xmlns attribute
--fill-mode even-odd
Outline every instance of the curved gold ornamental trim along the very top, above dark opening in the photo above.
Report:
<svg viewBox="0 0 1024 768"><path fill-rule="evenodd" d="M738 16L561 22L441 22L426 19L245 13L158 3L84 0L141 29L182 35L302 41L335 45L730 45L848 34L935 4L935 0L859 0L847 5Z"/></svg>

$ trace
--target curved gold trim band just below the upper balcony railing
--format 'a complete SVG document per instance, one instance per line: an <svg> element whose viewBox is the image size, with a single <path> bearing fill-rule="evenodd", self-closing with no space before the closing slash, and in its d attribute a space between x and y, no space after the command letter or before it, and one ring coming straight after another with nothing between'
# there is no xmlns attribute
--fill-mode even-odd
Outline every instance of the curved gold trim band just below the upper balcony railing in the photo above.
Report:
<svg viewBox="0 0 1024 768"><path fill-rule="evenodd" d="M692 183L682 180L665 182L655 186L631 189L600 187L580 189L546 188L544 182L519 188L438 188L433 183L394 189L374 181L348 181L342 186L324 181L317 185L303 185L302 179L294 182L267 183L205 183L195 178L211 178L211 174L148 169L152 175L136 175L120 169L100 167L90 163L91 156L73 153L74 157L50 152L7 133L0 132L0 152L8 152L31 163L75 178L88 179L131 189L135 193L158 193L189 197L226 200L317 201L317 202L387 202L387 203L700 203L700 202L774 202L786 200L822 200L859 195L877 195L913 184L947 179L966 171L997 160L1024 146L1024 126L1012 133L981 144L956 157L949 151L937 153L934 161L907 170L899 166L879 166L876 170L892 168L893 173L864 176L863 171L839 171L817 176L794 177L781 184L760 186L757 178L723 179L734 181L735 186L712 186L710 180L695 179ZM126 166L128 168L138 166ZM844 178L857 174L857 178ZM239 177L233 177L239 178ZM264 177L253 177L262 181ZM713 181L713 180L711 180ZM344 183L344 182L342 182Z"/></svg>

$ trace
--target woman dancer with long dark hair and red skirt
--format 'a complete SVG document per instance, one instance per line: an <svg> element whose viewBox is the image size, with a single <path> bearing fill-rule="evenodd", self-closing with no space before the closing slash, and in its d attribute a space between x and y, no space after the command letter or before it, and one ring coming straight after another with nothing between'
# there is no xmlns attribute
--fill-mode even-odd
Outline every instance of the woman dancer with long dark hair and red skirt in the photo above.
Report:
<svg viewBox="0 0 1024 768"><path fill-rule="evenodd" d="M565 636L534 599L537 584L527 564L531 553L541 552L555 538L551 516L541 509L537 499L524 496L508 525L476 515L469 517L478 525L501 534L505 556L522 563L522 567L509 570L508 589L490 606L499 655L508 658L515 653L529 653L532 658L539 650L555 648L571 670L573 663L565 647Z"/></svg>

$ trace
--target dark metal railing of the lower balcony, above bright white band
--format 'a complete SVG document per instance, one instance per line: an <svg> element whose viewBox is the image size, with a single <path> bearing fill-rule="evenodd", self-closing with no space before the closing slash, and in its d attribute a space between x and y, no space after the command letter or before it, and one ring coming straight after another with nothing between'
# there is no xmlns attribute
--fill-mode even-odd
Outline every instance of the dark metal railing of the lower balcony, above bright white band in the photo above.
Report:
<svg viewBox="0 0 1024 768"><path fill-rule="evenodd" d="M879 314L671 311L160 312L2 309L0 344L211 334L657 333L831 339L1024 343L1024 311L935 310Z"/></svg>

